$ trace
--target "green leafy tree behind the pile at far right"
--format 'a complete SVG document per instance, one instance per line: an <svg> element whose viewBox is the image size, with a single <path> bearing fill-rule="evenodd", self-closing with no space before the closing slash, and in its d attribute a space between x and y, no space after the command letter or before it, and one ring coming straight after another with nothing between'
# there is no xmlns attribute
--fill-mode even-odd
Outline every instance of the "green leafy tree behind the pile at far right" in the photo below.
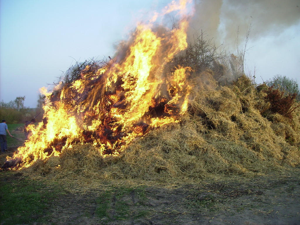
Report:
<svg viewBox="0 0 300 225"><path fill-rule="evenodd" d="M280 91L283 91L285 95L295 94L296 99L298 101L300 100L300 90L297 79L277 74L267 82L267 85L278 88Z"/></svg>

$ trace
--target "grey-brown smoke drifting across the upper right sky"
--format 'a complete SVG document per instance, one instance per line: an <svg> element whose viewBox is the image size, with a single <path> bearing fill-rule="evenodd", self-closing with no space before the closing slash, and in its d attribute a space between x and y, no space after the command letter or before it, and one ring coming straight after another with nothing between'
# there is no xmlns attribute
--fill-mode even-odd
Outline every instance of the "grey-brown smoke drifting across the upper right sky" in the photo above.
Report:
<svg viewBox="0 0 300 225"><path fill-rule="evenodd" d="M277 36L300 22L299 0L195 0L189 42L202 32L216 44L234 47L250 29L249 41ZM251 27L251 28L250 28Z"/></svg>

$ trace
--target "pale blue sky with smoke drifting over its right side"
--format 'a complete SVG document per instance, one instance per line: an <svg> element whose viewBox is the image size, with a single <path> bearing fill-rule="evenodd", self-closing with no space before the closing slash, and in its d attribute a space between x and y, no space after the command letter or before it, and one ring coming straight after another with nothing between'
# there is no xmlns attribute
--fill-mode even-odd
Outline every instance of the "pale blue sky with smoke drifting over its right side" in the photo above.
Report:
<svg viewBox="0 0 300 225"><path fill-rule="evenodd" d="M0 101L25 96L25 107L36 107L41 87L51 89L76 61L113 57L139 21L170 2L0 0ZM276 74L299 82L300 0L191 0L191 5L189 40L202 30L234 53L250 28L246 73L257 83Z"/></svg>

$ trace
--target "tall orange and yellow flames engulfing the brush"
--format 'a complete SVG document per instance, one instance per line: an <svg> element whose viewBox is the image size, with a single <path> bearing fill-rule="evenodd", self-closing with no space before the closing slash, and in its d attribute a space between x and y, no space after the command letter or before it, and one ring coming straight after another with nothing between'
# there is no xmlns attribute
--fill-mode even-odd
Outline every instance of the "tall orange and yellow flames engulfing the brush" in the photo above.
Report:
<svg viewBox="0 0 300 225"><path fill-rule="evenodd" d="M186 7L187 1L172 1L163 13L175 10L183 16ZM187 109L190 68L178 66L170 72L166 66L187 47L187 26L186 16L170 32L140 24L125 53L107 66L98 71L87 66L72 83L60 83L49 93L42 90L47 100L43 122L7 161L18 159L15 169L29 167L84 143L103 156L118 155L152 128L178 122Z"/></svg>

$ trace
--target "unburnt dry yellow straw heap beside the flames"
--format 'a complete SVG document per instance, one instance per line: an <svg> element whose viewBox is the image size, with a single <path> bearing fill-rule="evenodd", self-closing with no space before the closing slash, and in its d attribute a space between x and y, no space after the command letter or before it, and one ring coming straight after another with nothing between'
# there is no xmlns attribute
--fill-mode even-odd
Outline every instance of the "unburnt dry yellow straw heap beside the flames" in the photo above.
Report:
<svg viewBox="0 0 300 225"><path fill-rule="evenodd" d="M55 179L77 177L91 185L91 180L247 177L299 166L299 108L292 119L270 113L266 94L245 76L219 86L213 73L206 71L190 83L193 92L181 122L151 130L121 155L103 158L86 144L37 161L29 170Z"/></svg>

